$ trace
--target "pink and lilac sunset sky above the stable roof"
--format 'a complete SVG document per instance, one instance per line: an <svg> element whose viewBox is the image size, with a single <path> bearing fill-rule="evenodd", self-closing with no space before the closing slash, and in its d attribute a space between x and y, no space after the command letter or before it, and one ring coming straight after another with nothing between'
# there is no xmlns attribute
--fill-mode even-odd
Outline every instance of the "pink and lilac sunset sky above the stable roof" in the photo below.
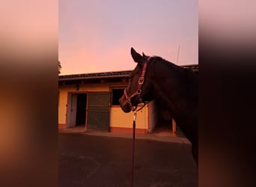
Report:
<svg viewBox="0 0 256 187"><path fill-rule="evenodd" d="M58 4L61 75L133 70L131 47L174 64L198 64L197 0L61 0Z"/></svg>

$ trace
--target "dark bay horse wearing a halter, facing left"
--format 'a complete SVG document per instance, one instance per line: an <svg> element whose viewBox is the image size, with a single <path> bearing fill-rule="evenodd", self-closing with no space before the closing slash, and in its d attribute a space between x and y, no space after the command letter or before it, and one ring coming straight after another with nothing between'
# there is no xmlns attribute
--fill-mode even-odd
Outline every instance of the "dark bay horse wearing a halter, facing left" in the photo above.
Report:
<svg viewBox="0 0 256 187"><path fill-rule="evenodd" d="M135 111L138 103L155 99L191 142L198 164L198 75L163 58L140 55L133 48L131 55L137 66L119 99L122 110Z"/></svg>

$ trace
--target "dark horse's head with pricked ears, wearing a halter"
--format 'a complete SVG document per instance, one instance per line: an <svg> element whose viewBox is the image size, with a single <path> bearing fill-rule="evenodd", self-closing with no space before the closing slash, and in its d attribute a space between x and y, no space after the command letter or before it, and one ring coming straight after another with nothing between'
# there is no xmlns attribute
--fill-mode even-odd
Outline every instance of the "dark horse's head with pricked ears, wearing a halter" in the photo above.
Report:
<svg viewBox="0 0 256 187"><path fill-rule="evenodd" d="M135 111L139 103L147 103L153 99L152 85L149 81L152 73L147 67L150 57L144 55L144 53L142 55L138 54L133 48L131 48L131 55L137 66L129 74L128 86L124 89L124 94L119 99L120 106L124 112Z"/></svg>

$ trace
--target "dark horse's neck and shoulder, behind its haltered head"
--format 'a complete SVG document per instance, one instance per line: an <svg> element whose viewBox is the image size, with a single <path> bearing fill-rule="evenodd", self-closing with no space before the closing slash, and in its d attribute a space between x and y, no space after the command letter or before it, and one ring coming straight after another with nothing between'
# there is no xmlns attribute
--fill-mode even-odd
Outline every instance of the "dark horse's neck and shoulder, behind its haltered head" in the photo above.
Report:
<svg viewBox="0 0 256 187"><path fill-rule="evenodd" d="M188 81L188 77L193 75L188 76L187 70L166 63L155 61L152 65L154 99L160 107L167 109L186 138L192 144L198 144L198 99L194 89L192 95L195 98L192 99ZM197 87L197 83L192 86Z"/></svg>

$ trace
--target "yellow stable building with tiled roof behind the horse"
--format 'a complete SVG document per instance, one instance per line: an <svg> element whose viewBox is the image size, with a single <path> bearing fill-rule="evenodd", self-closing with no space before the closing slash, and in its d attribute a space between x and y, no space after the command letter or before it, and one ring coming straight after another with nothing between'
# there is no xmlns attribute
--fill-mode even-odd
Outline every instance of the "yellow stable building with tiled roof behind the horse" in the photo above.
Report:
<svg viewBox="0 0 256 187"><path fill-rule="evenodd" d="M198 73L198 65L183 68ZM133 113L124 113L118 102L131 72L59 76L58 129L84 126L85 131L132 132ZM152 101L138 111L136 133L152 133L157 127L179 132L168 112Z"/></svg>

